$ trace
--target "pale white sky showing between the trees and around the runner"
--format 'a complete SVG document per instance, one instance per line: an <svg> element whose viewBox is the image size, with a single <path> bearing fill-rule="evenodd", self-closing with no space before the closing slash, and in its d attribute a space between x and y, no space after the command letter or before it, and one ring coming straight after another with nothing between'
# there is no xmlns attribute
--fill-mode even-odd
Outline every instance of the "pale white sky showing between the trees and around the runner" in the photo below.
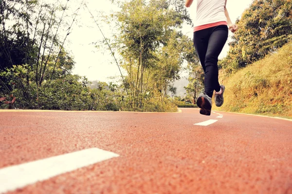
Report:
<svg viewBox="0 0 292 194"><path fill-rule="evenodd" d="M65 5L66 0L58 0ZM82 0L69 1L70 9L67 12L74 12L80 5ZM190 13L191 18L194 18L194 10L196 9L195 1L187 10ZM228 0L227 10L230 18L233 22L241 16L243 11L252 3L253 0ZM117 11L118 8L110 2L110 0L87 0L87 6L89 7L94 18L99 23L104 35L107 38L111 38L111 35L115 32L115 28L110 27L102 21L101 13L108 15L113 11ZM69 14L69 13L68 13ZM70 18L68 18L70 20ZM183 26L183 33L193 38L193 29L189 25ZM232 33L229 32L228 41L231 40ZM94 20L91 18L89 11L83 6L78 12L76 23L73 25L72 33L68 36L68 43L66 49L71 52L76 62L73 74L86 76L90 81L99 80L103 82L109 82L111 76L119 76L120 72L117 65L114 62L113 57L106 47L96 48L92 43L103 40L103 36L100 33ZM229 47L225 44L219 58L226 56ZM187 76L187 72L182 72L183 76Z"/></svg>

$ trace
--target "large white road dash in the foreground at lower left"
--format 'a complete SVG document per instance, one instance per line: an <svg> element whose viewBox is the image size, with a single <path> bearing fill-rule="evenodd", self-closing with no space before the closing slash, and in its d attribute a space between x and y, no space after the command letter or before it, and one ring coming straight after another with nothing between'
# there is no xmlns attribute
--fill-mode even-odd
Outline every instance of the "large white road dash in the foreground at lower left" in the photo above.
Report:
<svg viewBox="0 0 292 194"><path fill-rule="evenodd" d="M13 191L114 157L119 157L119 155L98 148L90 148L2 168L0 169L0 193Z"/></svg>

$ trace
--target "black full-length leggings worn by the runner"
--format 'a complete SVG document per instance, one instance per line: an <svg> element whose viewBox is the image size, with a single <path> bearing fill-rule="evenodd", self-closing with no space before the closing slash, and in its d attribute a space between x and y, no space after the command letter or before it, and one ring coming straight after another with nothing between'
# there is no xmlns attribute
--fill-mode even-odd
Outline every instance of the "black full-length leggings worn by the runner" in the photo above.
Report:
<svg viewBox="0 0 292 194"><path fill-rule="evenodd" d="M205 94L212 98L220 91L218 81L218 56L228 38L228 27L219 25L194 32L194 45L205 72Z"/></svg>

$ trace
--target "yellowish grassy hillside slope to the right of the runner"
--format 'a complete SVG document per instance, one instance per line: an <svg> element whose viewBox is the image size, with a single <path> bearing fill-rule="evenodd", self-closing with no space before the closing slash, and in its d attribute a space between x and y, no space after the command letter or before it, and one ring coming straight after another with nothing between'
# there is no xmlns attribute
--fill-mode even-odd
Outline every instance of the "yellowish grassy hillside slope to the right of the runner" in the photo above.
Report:
<svg viewBox="0 0 292 194"><path fill-rule="evenodd" d="M219 79L226 91L217 110L292 117L292 43Z"/></svg>

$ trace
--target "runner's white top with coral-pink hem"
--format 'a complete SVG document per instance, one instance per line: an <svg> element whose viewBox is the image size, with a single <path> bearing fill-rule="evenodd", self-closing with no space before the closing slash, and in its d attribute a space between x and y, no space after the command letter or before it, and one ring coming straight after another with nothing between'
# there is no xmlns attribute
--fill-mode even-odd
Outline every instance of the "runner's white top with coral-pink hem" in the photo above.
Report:
<svg viewBox="0 0 292 194"><path fill-rule="evenodd" d="M225 0L197 0L197 14L194 21L195 27L226 21Z"/></svg>

